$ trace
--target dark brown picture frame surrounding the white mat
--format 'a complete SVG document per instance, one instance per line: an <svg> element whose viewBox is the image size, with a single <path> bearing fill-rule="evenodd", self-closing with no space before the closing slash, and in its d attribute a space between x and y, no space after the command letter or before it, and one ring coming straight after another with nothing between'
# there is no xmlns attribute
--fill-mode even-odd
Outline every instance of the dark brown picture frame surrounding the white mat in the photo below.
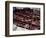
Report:
<svg viewBox="0 0 46 38"><path fill-rule="evenodd" d="M34 4L34 5L43 5L43 33L37 34L21 34L21 35L9 35L9 4L10 3L22 3L22 4ZM44 35L45 34L45 4L44 3L35 3L35 2L19 2L19 1L5 1L5 36L29 36L29 35Z"/></svg>

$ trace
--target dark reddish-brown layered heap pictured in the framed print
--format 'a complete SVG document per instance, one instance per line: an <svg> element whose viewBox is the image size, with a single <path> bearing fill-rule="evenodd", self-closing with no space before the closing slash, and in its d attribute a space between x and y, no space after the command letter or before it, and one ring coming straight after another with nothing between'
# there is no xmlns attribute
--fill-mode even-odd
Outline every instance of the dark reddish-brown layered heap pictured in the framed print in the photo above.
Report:
<svg viewBox="0 0 46 38"><path fill-rule="evenodd" d="M15 8L13 10L13 23L25 29L40 30L40 10L37 9Z"/></svg>

